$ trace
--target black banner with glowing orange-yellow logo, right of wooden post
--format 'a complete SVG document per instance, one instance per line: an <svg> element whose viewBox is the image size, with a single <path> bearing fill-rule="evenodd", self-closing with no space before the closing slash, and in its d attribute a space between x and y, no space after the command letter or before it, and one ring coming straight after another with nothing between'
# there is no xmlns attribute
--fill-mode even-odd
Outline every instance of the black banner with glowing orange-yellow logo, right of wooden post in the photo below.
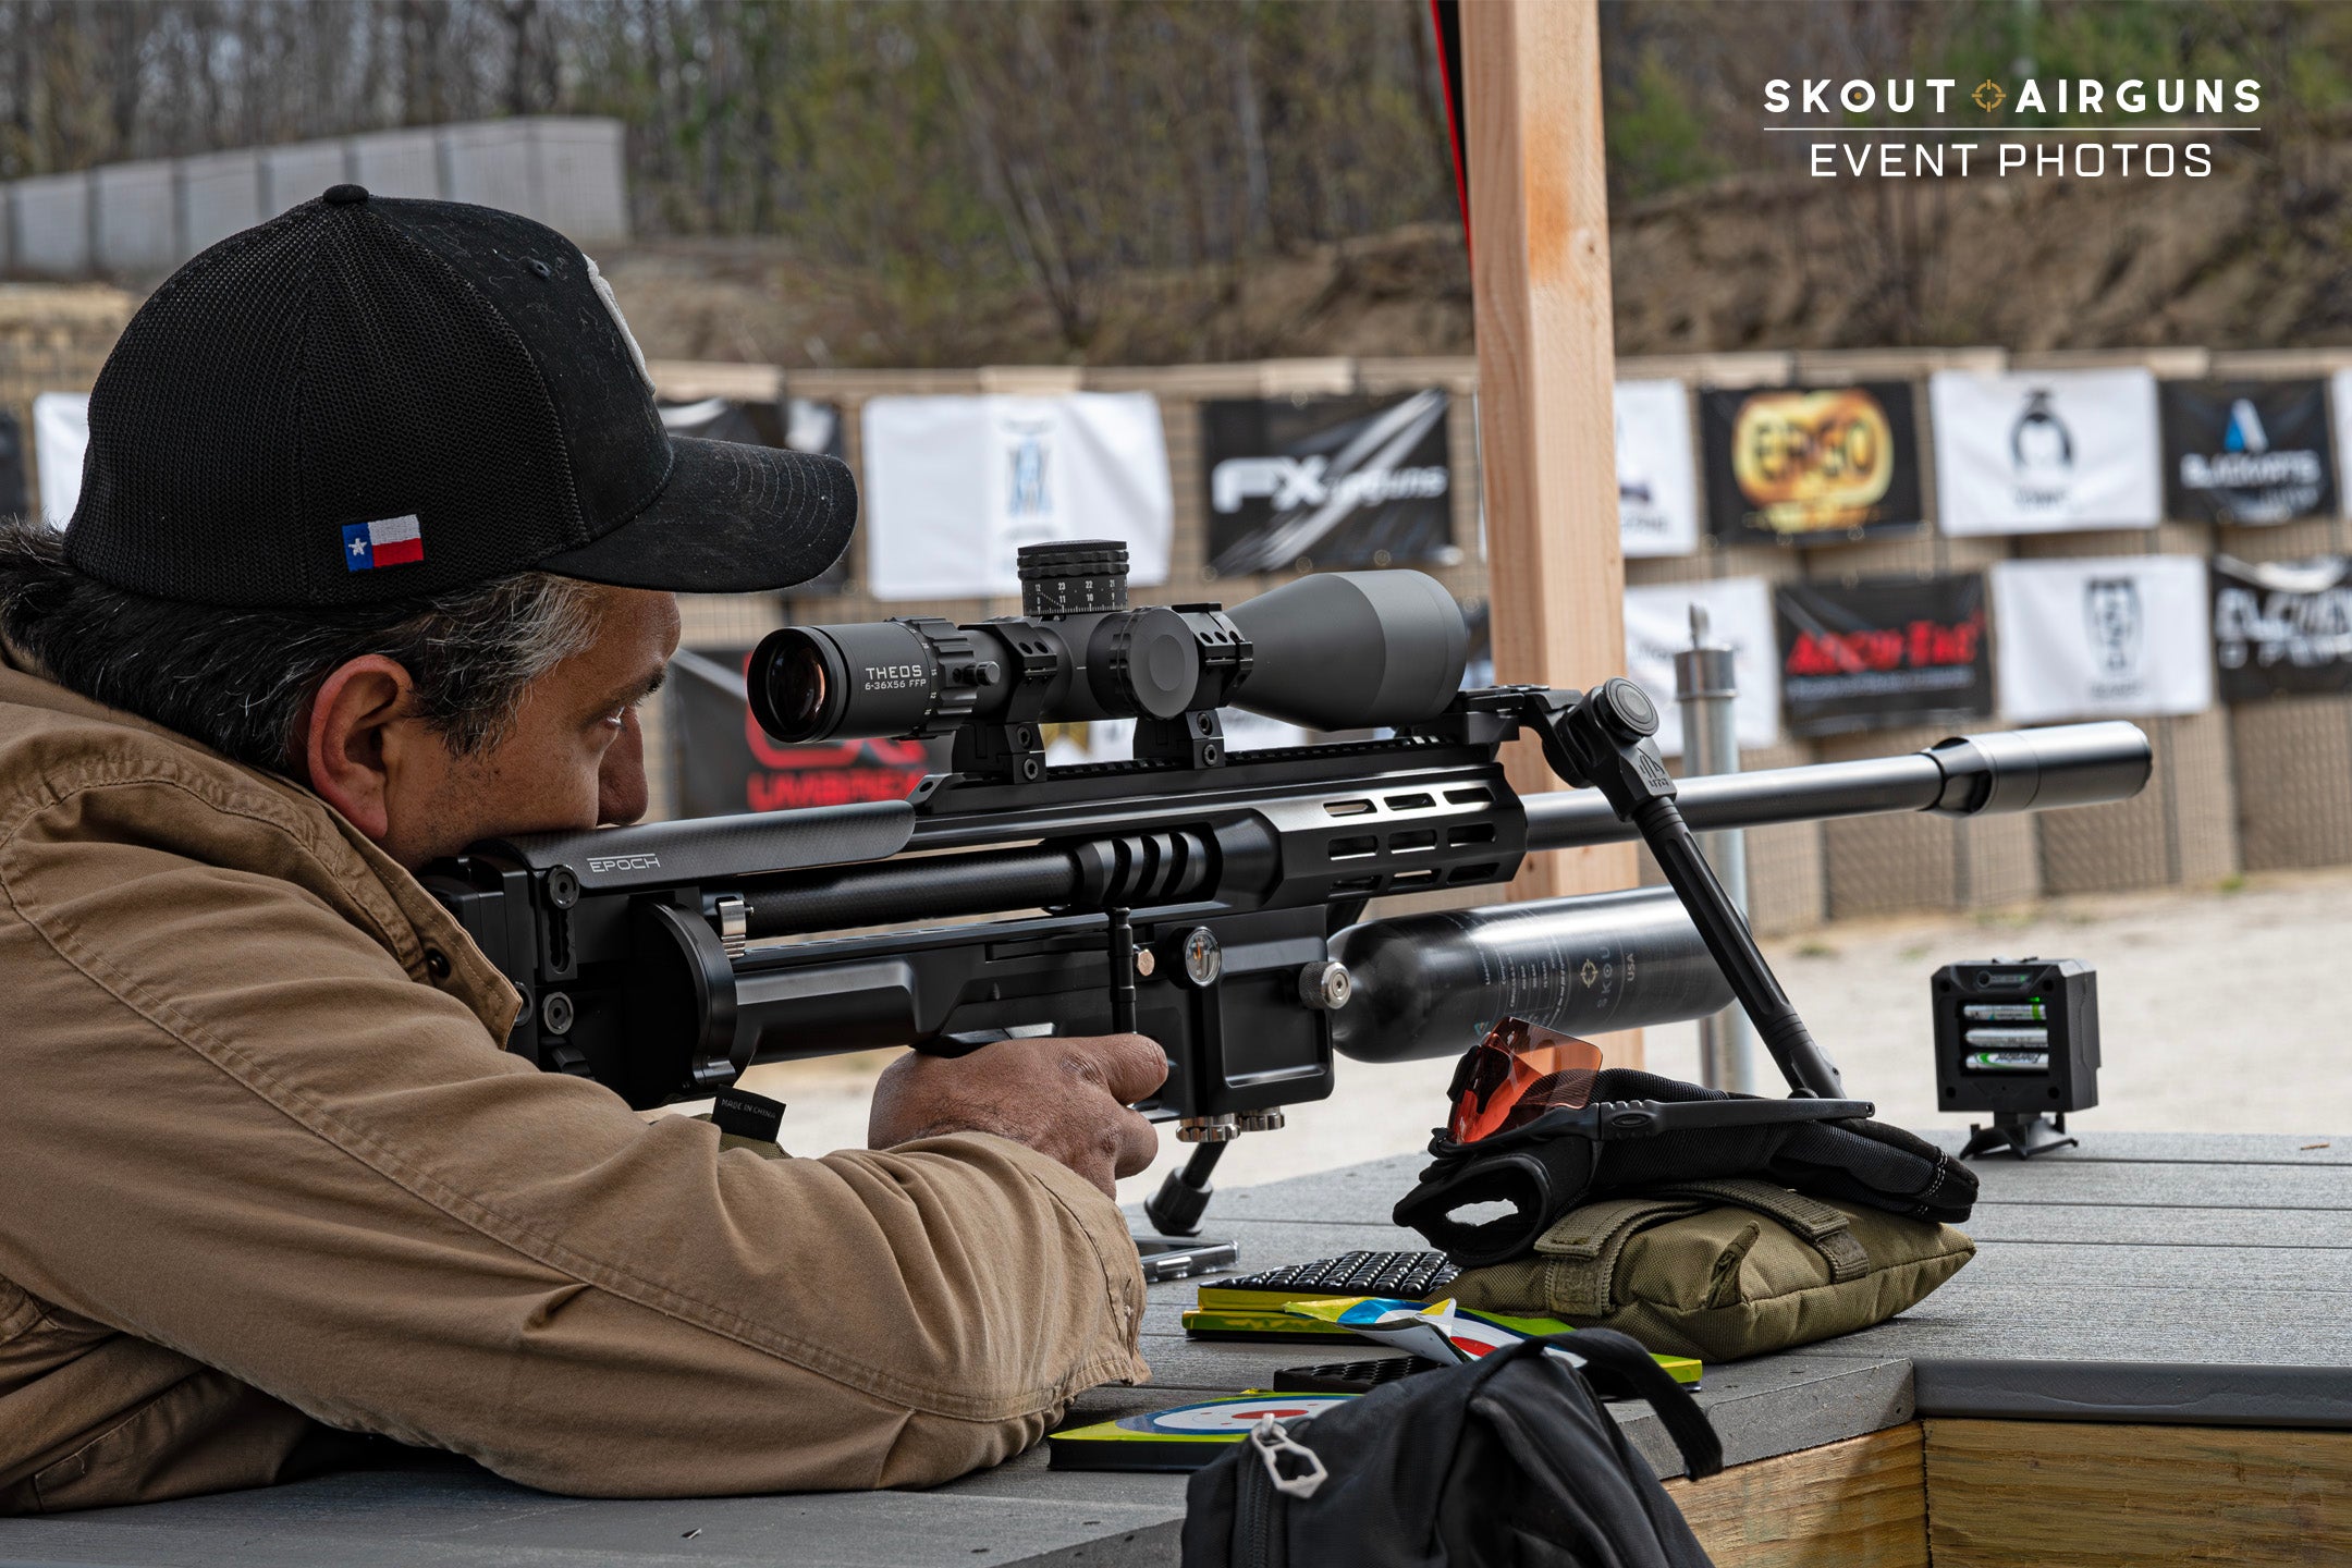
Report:
<svg viewBox="0 0 2352 1568"><path fill-rule="evenodd" d="M1698 395L1708 515L1726 541L1820 543L1919 527L1919 437L1900 381Z"/></svg>

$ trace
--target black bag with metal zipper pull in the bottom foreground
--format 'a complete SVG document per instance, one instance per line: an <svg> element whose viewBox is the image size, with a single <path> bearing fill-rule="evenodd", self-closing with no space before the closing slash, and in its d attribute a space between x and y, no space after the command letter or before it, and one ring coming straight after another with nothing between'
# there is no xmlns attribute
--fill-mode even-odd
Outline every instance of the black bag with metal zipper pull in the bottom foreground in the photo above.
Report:
<svg viewBox="0 0 2352 1568"><path fill-rule="evenodd" d="M1724 1467L1691 1394L1623 1333L1585 1328L1263 1420L1192 1476L1183 1568L1708 1568L1588 1380L1646 1399L1691 1476Z"/></svg>

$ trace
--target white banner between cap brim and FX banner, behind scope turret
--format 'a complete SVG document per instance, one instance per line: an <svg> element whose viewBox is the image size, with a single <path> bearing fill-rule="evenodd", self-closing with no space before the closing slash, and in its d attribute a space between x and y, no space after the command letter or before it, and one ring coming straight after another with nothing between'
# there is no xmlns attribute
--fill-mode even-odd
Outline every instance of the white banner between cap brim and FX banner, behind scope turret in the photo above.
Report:
<svg viewBox="0 0 2352 1568"><path fill-rule="evenodd" d="M863 416L866 583L877 599L1021 592L1014 552L1127 543L1164 583L1176 503L1150 393L875 397Z"/></svg>

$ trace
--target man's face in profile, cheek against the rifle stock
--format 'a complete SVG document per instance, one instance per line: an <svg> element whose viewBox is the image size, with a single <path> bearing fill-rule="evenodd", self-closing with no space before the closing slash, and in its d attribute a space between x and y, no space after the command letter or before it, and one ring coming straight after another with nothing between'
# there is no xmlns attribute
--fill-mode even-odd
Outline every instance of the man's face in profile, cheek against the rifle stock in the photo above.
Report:
<svg viewBox="0 0 2352 1568"><path fill-rule="evenodd" d="M600 588L597 611L595 642L539 677L487 750L452 755L414 719L386 736L383 832L369 837L395 860L416 870L485 837L644 816L637 703L661 686L677 651L677 599Z"/></svg>

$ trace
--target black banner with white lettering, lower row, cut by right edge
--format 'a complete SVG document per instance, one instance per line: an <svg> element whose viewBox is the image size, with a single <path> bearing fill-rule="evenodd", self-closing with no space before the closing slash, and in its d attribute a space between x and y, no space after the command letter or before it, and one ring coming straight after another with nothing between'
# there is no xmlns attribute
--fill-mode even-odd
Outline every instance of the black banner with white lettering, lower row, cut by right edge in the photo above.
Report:
<svg viewBox="0 0 2352 1568"><path fill-rule="evenodd" d="M2352 557L2211 567L2220 701L2352 691Z"/></svg>

